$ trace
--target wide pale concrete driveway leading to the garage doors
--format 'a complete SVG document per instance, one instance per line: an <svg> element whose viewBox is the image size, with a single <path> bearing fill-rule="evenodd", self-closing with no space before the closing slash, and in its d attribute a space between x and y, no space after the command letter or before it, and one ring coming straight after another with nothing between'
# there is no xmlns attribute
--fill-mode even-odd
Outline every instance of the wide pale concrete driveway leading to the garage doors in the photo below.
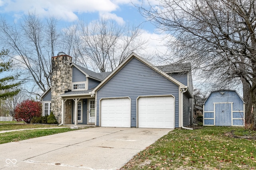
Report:
<svg viewBox="0 0 256 170"><path fill-rule="evenodd" d="M171 129L96 127L0 145L4 170L116 170Z"/></svg>

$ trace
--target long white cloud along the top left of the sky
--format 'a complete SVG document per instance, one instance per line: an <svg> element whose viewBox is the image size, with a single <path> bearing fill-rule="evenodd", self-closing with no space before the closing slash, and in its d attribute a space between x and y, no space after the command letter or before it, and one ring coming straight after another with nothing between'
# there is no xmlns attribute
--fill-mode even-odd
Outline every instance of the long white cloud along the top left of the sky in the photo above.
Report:
<svg viewBox="0 0 256 170"><path fill-rule="evenodd" d="M60 20L77 20L77 14L87 12L112 12L118 5L111 0L12 0L0 1L1 13L9 12L14 15L36 12L41 17L54 16Z"/></svg>

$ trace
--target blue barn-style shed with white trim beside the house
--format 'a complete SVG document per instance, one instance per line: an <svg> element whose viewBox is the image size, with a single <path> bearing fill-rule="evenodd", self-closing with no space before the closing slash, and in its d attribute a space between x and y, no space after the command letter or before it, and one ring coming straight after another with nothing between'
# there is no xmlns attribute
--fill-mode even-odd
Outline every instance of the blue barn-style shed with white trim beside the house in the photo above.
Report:
<svg viewBox="0 0 256 170"><path fill-rule="evenodd" d="M204 126L243 126L245 103L236 90L213 91L203 104Z"/></svg>

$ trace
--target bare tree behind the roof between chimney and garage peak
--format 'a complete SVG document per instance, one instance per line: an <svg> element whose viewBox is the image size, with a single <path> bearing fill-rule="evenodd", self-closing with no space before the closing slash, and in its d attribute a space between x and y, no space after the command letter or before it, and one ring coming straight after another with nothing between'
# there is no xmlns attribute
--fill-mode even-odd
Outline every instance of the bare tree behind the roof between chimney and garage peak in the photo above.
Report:
<svg viewBox="0 0 256 170"><path fill-rule="evenodd" d="M114 70L132 52L141 53L147 41L139 27L119 26L102 18L90 24L80 23L80 51L92 68L100 72ZM84 62L83 60L81 60Z"/></svg>

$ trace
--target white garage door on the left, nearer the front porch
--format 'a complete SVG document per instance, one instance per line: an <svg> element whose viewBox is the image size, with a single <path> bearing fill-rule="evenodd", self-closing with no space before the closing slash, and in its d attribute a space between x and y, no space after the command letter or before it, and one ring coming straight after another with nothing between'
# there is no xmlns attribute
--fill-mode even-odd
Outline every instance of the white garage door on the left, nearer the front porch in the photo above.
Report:
<svg viewBox="0 0 256 170"><path fill-rule="evenodd" d="M131 127L131 101L129 98L101 100L102 127Z"/></svg>

